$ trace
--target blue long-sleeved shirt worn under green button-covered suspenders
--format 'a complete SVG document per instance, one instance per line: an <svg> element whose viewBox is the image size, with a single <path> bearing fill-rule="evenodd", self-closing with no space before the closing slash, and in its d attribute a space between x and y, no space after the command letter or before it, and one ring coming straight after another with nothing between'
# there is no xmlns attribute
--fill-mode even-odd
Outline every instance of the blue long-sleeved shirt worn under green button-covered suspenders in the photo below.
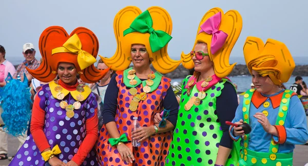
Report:
<svg viewBox="0 0 308 166"><path fill-rule="evenodd" d="M274 96L282 91L275 93L273 95L263 95L263 96ZM272 135L264 131L262 125L257 121L258 119L254 117L257 112L262 112L266 110L268 112L268 120L272 125L276 124L276 119L278 116L279 107L273 109L271 99L267 98L266 101L270 103L270 106L264 108L263 104L257 109L254 105L251 105L249 109L249 122L252 127L252 132L249 135L248 149L256 152L268 152L269 145L271 143ZM243 100L241 100L241 103ZM232 122L237 122L243 119L242 108L243 105L240 103L236 110L235 118ZM292 96L290 100L289 109L286 115L284 127L286 130L286 141L279 145L278 153L290 153L293 152L295 144L304 144L308 139L307 133L307 120L304 108L298 96ZM235 137L233 135L233 129L230 131L230 135L234 139L239 139L240 137ZM278 137L273 136L275 141L278 141ZM243 140L241 140L241 146L243 146Z"/></svg>

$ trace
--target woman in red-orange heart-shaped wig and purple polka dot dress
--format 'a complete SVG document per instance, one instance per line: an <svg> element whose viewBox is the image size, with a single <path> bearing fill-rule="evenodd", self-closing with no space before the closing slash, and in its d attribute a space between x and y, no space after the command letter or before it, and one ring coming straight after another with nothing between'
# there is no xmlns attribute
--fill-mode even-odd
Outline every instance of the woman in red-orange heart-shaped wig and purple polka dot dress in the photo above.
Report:
<svg viewBox="0 0 308 166"><path fill-rule="evenodd" d="M10 165L98 165L93 146L98 138L97 102L88 83L108 70L94 67L98 38L79 27L69 35L52 26L39 40L43 63L29 73L43 85L34 99L31 134ZM56 76L60 79L54 79Z"/></svg>

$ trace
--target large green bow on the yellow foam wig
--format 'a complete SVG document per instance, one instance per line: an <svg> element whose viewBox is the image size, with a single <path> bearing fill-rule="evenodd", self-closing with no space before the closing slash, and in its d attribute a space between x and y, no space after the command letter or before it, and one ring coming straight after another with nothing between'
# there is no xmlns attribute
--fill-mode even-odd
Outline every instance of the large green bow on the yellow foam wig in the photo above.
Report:
<svg viewBox="0 0 308 166"><path fill-rule="evenodd" d="M151 50L156 52L165 47L172 37L164 31L154 30L152 26L152 17L149 11L146 10L133 20L129 28L123 32L123 36L131 32L149 33Z"/></svg>

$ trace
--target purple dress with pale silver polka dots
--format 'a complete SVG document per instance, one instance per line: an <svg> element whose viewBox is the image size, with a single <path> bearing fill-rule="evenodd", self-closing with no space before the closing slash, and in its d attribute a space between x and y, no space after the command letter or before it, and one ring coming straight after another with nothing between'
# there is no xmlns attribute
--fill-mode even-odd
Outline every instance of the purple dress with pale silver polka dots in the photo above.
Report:
<svg viewBox="0 0 308 166"><path fill-rule="evenodd" d="M72 118L66 116L66 110L60 107L61 100L55 99L48 85L38 92L41 98L40 107L45 110L44 133L50 147L56 144L61 150L61 154L56 155L60 160L67 163L78 152L78 148L86 135L86 120L94 116L94 109L97 108L95 96L91 93L89 97L81 102L81 108L74 110ZM69 104L75 100L68 94L63 99ZM36 147L32 135L30 134L22 148L16 153L10 165L50 165L45 162L40 150ZM82 165L98 165L95 150L92 149L87 155Z"/></svg>

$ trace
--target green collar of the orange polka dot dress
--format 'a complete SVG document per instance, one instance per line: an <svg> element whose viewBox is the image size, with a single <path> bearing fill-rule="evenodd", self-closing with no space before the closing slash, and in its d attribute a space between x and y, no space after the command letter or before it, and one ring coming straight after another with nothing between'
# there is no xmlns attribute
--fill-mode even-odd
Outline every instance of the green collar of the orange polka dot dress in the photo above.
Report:
<svg viewBox="0 0 308 166"><path fill-rule="evenodd" d="M125 86L128 87L128 88L137 87L142 82L142 86L145 87L146 86L146 80L141 81L137 76L134 78L135 80L137 80L137 84L134 85L134 86L129 84L130 79L127 78L127 75L128 75L128 71L131 70L131 69L132 69L132 67L129 68L129 69L124 70L124 72L123 72L123 82L124 82ZM159 84L161 82L161 79L163 77L163 75L161 73L159 73L159 72L155 72L154 74L155 74L155 78L152 79L154 81L154 84L152 86L150 86L151 87L151 91L150 92L153 92L153 91L155 91L158 88L158 86L159 86Z"/></svg>

